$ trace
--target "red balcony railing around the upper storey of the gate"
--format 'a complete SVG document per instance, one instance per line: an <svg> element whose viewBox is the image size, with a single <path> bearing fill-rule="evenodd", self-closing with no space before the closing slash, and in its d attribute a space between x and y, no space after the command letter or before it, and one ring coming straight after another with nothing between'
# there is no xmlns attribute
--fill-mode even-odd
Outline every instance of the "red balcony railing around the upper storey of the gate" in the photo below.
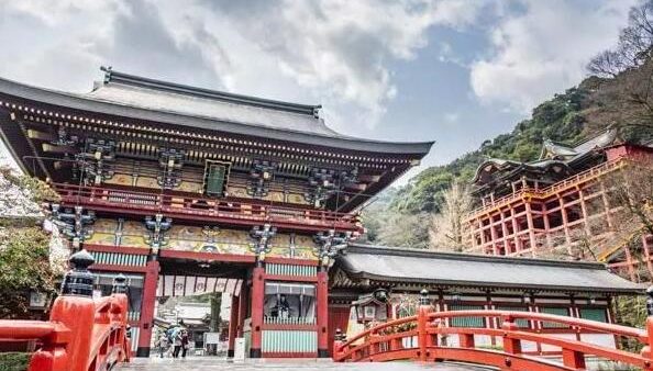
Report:
<svg viewBox="0 0 653 371"><path fill-rule="evenodd" d="M126 211L142 215L162 213L170 217L217 220L253 225L299 226L305 229L335 228L362 232L354 214L325 210L287 207L275 203L247 203L192 195L148 193L99 187L54 183L65 205L84 205L90 210Z"/></svg>

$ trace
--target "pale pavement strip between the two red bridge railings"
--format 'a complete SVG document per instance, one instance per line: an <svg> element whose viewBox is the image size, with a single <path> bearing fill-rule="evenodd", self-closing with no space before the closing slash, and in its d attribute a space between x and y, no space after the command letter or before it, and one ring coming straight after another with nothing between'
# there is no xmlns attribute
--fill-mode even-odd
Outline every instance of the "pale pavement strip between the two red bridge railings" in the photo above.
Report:
<svg viewBox="0 0 653 371"><path fill-rule="evenodd" d="M379 362L379 363L334 363L331 360L290 359L290 360L247 360L245 362L231 362L221 358L192 357L188 359L171 358L135 358L131 363L120 366L118 371L487 371L478 368L456 363L428 363L417 362Z"/></svg>

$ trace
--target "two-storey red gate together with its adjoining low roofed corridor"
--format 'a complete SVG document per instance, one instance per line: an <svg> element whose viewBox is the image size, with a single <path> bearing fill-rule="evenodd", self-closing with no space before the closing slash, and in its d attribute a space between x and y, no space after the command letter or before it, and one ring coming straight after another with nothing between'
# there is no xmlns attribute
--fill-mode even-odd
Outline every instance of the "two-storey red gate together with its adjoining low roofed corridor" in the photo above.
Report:
<svg viewBox="0 0 653 371"><path fill-rule="evenodd" d="M126 276L137 356L150 355L155 302L167 296L230 293L229 352L243 337L257 358L328 357L337 328L409 315L397 299L424 289L439 310L602 322L613 295L641 293L597 263L356 244L359 209L431 142L353 138L319 105L104 72L84 94L0 79L0 131L22 170L60 195L47 212L71 250L93 256L96 291Z"/></svg>

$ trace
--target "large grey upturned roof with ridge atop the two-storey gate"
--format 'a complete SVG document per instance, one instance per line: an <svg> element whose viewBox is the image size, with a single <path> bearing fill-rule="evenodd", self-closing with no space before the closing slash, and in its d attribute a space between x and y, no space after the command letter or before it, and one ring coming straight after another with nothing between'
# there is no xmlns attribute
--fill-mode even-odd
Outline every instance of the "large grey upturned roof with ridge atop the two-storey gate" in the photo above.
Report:
<svg viewBox="0 0 653 371"><path fill-rule="evenodd" d="M0 97L37 104L173 125L420 159L433 142L373 140L339 134L319 117L319 105L280 102L193 88L111 70L85 94L42 89L0 78Z"/></svg>

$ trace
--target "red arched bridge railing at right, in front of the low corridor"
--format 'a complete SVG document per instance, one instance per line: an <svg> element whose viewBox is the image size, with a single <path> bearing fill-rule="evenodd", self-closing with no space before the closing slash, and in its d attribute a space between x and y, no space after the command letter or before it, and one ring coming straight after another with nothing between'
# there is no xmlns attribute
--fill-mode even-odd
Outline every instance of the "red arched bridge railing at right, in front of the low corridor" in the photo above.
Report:
<svg viewBox="0 0 653 371"><path fill-rule="evenodd" d="M500 328L450 327L447 318L499 318ZM644 348L634 353L596 344L555 337L520 329L517 319L530 319L569 326L576 331L591 330L618 337L634 338ZM477 346L476 335L500 337L502 349ZM443 340L458 338L457 345L447 346ZM558 357L536 356L522 350L522 341L560 349ZM431 312L421 305L418 315L391 321L351 339L336 339L333 359L337 362L369 362L412 359L419 361L455 360L500 368L501 370L585 370L586 356L621 362L642 370L653 370L653 317L646 329L605 324L594 321L532 312L507 311L451 311Z"/></svg>

